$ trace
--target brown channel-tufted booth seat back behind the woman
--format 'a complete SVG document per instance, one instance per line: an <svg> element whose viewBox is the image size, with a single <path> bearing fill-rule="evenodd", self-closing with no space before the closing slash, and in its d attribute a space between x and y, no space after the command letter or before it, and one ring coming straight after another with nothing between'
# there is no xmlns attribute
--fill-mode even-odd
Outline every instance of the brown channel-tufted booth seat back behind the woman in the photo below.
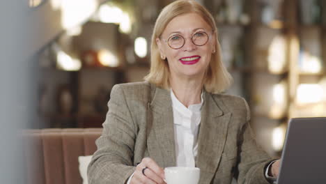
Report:
<svg viewBox="0 0 326 184"><path fill-rule="evenodd" d="M93 155L101 133L102 128L24 130L26 183L83 183L78 158Z"/></svg>

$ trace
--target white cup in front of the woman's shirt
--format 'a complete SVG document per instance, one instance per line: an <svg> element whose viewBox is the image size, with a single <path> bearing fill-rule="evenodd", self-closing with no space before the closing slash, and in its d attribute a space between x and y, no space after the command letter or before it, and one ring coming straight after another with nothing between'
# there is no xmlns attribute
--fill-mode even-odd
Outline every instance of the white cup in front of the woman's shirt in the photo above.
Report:
<svg viewBox="0 0 326 184"><path fill-rule="evenodd" d="M198 167L166 167L167 184L198 184L200 169Z"/></svg>

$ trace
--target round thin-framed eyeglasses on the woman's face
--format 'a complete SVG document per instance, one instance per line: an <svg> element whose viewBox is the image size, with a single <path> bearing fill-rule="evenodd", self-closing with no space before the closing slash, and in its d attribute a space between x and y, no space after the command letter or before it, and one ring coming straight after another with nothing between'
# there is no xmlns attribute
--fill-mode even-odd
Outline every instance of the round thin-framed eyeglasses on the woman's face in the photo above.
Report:
<svg viewBox="0 0 326 184"><path fill-rule="evenodd" d="M208 42L208 34L205 33L204 31L199 31L194 33L194 35L192 35L192 43L194 43L194 45L203 46L207 42ZM181 35L176 34L170 36L169 39L167 40L167 43L169 47L171 47L172 49L180 49L181 47L183 47L183 45L185 45L185 38L183 38L183 36Z"/></svg>

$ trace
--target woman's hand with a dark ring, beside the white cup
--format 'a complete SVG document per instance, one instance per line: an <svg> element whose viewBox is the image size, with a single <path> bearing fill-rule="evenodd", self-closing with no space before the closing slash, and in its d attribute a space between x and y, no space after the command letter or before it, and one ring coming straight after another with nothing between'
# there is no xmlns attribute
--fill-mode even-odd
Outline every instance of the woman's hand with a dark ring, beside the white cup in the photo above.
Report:
<svg viewBox="0 0 326 184"><path fill-rule="evenodd" d="M144 170L143 174L143 169ZM137 165L134 176L132 176L130 184L166 184L164 182L164 170L157 165L151 158L143 158Z"/></svg>

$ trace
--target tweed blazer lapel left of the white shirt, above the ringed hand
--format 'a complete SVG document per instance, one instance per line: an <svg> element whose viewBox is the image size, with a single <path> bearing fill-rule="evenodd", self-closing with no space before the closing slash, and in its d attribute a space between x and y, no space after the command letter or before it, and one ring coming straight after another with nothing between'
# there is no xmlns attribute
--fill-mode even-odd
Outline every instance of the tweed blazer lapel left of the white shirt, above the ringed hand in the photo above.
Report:
<svg viewBox="0 0 326 184"><path fill-rule="evenodd" d="M176 166L173 110L169 91L155 88L153 100L148 104L147 124L150 158L160 167Z"/></svg>

